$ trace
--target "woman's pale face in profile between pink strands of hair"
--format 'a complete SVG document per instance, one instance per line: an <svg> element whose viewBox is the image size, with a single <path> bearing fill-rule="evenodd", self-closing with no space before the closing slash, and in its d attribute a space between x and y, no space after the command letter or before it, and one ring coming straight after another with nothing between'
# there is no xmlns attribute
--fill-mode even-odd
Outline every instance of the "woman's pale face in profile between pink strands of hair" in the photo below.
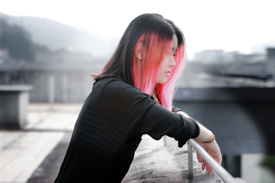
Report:
<svg viewBox="0 0 275 183"><path fill-rule="evenodd" d="M167 78L170 76L171 68L176 65L174 56L176 54L177 47L178 47L178 38L176 34L174 34L172 52L164 58L160 66L161 69L160 69L160 74L158 76L158 83L160 84L163 84L167 81Z"/></svg>

